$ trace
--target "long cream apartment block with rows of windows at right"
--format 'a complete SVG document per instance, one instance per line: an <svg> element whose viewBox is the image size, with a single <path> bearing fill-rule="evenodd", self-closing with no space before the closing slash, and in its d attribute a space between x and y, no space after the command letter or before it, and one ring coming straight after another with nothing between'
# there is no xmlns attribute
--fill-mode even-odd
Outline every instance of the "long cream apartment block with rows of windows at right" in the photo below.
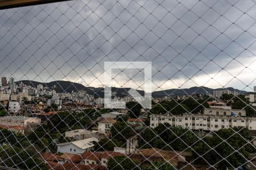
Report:
<svg viewBox="0 0 256 170"><path fill-rule="evenodd" d="M256 117L221 116L205 114L183 114L172 116L170 114L152 114L150 127L155 128L159 124L167 122L172 126L181 126L192 130L217 131L235 127L244 127L256 130Z"/></svg>

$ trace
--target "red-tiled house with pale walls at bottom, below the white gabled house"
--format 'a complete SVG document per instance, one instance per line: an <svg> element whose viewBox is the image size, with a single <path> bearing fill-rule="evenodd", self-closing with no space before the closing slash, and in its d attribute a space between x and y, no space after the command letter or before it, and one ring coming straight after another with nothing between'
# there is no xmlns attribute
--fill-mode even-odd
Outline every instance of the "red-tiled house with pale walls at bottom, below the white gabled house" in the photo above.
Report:
<svg viewBox="0 0 256 170"><path fill-rule="evenodd" d="M103 165L104 167L106 167L106 164L108 163L108 160L110 158L114 158L115 156L125 156L125 154L121 154L119 152L114 152L114 151L104 151L104 152L85 151L81 156L85 165L97 164L97 165Z"/></svg>

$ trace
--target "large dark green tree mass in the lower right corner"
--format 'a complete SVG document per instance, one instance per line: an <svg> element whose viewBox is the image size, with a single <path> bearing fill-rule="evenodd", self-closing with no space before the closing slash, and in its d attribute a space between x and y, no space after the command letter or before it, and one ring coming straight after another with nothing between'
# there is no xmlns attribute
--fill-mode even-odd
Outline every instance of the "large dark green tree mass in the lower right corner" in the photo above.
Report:
<svg viewBox="0 0 256 170"><path fill-rule="evenodd" d="M221 129L213 137L205 137L193 146L193 157L202 162L200 155L210 164L218 163L220 168L240 167L247 162L249 153L255 152L247 129ZM212 150L211 148L214 148ZM223 159L225 158L225 159Z"/></svg>

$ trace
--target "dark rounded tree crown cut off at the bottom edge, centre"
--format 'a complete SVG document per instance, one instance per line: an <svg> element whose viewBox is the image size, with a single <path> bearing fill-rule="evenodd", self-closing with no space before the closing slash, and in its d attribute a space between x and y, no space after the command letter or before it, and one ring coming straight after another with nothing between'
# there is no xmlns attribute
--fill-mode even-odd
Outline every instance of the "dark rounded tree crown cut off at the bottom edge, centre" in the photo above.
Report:
<svg viewBox="0 0 256 170"><path fill-rule="evenodd" d="M140 169L138 167L139 162L134 159L130 159L127 156L115 156L114 158L109 159L107 163L108 169L115 170L131 170L131 169Z"/></svg>

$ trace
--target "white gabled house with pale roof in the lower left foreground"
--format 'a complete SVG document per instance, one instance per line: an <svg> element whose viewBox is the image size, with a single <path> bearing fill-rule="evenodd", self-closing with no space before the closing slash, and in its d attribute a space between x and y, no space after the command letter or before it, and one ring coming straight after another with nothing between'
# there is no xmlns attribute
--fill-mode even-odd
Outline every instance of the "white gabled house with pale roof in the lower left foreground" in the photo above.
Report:
<svg viewBox="0 0 256 170"><path fill-rule="evenodd" d="M65 142L57 145L57 152L69 154L82 154L85 151L92 151L98 142L97 138L87 138L80 141Z"/></svg>

